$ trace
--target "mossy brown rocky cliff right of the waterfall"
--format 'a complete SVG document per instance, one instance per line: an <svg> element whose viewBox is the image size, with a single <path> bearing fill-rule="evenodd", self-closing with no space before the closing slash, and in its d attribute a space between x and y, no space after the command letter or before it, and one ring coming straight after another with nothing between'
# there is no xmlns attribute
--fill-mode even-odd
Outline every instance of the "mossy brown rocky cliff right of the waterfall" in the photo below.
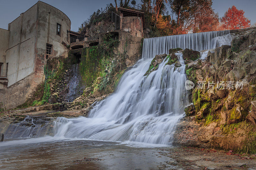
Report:
<svg viewBox="0 0 256 170"><path fill-rule="evenodd" d="M185 125L178 125L192 137L180 144L256 152L256 30L232 36L231 46L209 50L205 60L190 61L192 50L183 51L187 77L198 86L191 91L194 107L185 108Z"/></svg>

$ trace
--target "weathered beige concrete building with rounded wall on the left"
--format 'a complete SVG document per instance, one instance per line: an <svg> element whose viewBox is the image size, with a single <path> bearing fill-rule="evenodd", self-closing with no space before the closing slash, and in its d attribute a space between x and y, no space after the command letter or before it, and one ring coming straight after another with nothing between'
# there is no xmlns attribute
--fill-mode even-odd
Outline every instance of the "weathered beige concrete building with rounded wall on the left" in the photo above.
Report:
<svg viewBox="0 0 256 170"><path fill-rule="evenodd" d="M17 107L44 82L47 60L68 52L70 26L62 11L38 1L0 29L0 104Z"/></svg>

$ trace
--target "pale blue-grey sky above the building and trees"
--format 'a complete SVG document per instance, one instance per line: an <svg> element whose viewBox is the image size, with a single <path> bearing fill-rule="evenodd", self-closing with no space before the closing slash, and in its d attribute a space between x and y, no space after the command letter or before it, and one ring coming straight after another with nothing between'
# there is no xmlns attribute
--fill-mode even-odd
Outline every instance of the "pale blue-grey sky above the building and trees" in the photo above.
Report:
<svg viewBox="0 0 256 170"><path fill-rule="evenodd" d="M0 0L0 28L8 29L8 23L27 11L38 0ZM105 8L106 4L115 4L114 0L41 0L64 12L71 20L71 30L77 31L82 22L97 9ZM140 0L137 0L139 2ZM117 0L117 2L119 2ZM213 0L212 8L222 17L232 5L244 10L245 17L256 23L256 0Z"/></svg>

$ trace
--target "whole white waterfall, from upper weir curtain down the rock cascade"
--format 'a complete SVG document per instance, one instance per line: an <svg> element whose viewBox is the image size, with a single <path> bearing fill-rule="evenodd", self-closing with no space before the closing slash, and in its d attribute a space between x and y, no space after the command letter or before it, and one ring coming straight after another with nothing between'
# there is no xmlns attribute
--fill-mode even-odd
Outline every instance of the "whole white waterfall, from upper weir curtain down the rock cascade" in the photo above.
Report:
<svg viewBox="0 0 256 170"><path fill-rule="evenodd" d="M106 141L132 141L172 144L176 123L184 116L188 103L185 90L185 65L182 53L176 55L181 67L165 65L165 59L147 77L144 76L156 54L170 48L204 50L225 44L219 35L208 32L144 39L142 59L122 76L114 94L99 102L89 117L58 118L54 132L59 138L86 138ZM218 42L218 43L217 43ZM226 42L229 43L230 42Z"/></svg>

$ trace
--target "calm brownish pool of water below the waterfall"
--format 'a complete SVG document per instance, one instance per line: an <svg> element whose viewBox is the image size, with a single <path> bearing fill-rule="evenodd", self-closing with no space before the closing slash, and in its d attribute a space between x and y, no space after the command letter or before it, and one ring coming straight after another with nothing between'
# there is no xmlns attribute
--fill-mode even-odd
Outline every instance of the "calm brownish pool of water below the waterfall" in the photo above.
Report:
<svg viewBox="0 0 256 170"><path fill-rule="evenodd" d="M159 169L170 160L160 156L163 147L75 139L38 142L42 139L1 143L0 169ZM100 160L76 162L84 158Z"/></svg>

